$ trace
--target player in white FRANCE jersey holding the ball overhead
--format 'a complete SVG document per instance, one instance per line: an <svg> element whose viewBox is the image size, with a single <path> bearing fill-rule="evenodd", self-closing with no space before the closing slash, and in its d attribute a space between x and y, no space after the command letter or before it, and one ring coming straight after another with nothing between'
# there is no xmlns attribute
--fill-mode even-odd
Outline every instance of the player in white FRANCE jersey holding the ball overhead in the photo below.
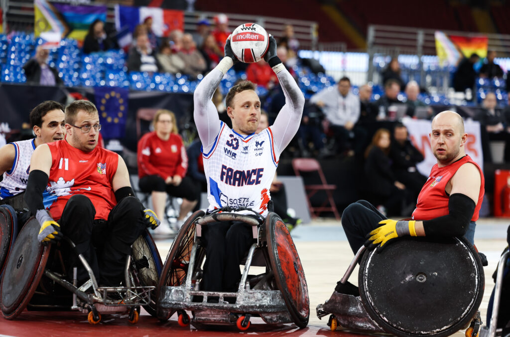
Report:
<svg viewBox="0 0 510 337"><path fill-rule="evenodd" d="M245 206L265 216L279 155L299 128L304 97L276 56L273 37L269 39L264 59L282 85L286 104L274 124L259 134L255 132L260 121L260 100L253 83L241 82L226 95L232 129L220 122L211 101L223 75L237 62L230 40L225 44L225 57L195 90L194 118L202 141L209 209ZM239 263L252 241L251 227L239 222L217 223L204 229L203 236L207 241L203 290L236 291L240 279Z"/></svg>

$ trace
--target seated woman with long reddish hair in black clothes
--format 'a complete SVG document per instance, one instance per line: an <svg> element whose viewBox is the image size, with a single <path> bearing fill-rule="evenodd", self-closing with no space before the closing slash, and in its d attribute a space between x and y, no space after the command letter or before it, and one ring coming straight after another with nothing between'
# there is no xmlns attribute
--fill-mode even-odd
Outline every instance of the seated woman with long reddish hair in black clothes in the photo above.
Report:
<svg viewBox="0 0 510 337"><path fill-rule="evenodd" d="M391 170L390 131L379 129L365 152L365 182L370 191L369 202L386 215L401 215L405 185Z"/></svg>

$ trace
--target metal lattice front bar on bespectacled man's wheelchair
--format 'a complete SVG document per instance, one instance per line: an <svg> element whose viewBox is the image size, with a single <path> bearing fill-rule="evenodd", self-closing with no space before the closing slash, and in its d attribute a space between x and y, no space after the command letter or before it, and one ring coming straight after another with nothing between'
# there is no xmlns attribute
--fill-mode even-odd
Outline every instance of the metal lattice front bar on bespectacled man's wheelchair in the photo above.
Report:
<svg viewBox="0 0 510 337"><path fill-rule="evenodd" d="M106 306L148 305L155 286L98 287L98 303Z"/></svg>

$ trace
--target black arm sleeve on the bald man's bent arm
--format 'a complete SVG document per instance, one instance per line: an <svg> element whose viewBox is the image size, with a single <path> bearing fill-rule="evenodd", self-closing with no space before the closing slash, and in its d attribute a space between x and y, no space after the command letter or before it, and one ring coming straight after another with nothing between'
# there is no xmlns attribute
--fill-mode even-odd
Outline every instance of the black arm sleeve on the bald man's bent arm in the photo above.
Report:
<svg viewBox="0 0 510 337"><path fill-rule="evenodd" d="M425 235L463 236L468 230L475 207L475 202L468 196L460 193L451 195L447 215L423 221Z"/></svg>

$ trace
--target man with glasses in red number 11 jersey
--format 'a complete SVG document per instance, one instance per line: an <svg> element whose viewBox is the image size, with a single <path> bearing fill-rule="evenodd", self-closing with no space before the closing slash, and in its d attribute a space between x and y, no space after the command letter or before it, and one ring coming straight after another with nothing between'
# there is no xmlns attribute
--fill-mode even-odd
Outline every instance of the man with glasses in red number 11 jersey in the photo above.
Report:
<svg viewBox="0 0 510 337"><path fill-rule="evenodd" d="M25 201L41 224L41 242L66 235L100 285L120 285L131 245L159 220L135 197L124 160L97 147L101 125L96 107L75 101L65 108L65 122L66 139L34 151ZM64 256L68 267L78 267L78 281L86 281L88 274L77 255Z"/></svg>

